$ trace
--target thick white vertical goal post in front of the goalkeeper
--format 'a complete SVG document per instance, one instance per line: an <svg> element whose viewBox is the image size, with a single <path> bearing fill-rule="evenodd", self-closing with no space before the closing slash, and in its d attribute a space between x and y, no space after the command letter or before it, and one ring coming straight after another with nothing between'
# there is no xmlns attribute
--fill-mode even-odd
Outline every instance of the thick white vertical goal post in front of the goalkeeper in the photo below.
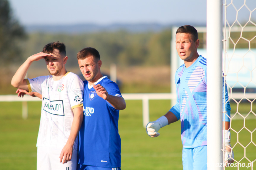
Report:
<svg viewBox="0 0 256 170"><path fill-rule="evenodd" d="M222 1L206 3L207 167L222 169Z"/></svg>

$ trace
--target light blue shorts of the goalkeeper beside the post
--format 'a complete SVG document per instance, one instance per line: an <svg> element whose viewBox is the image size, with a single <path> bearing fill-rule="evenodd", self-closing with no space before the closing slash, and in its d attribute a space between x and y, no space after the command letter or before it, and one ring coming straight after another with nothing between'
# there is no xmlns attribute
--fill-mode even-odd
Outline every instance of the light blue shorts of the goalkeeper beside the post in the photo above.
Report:
<svg viewBox="0 0 256 170"><path fill-rule="evenodd" d="M182 149L183 170L207 169L207 146Z"/></svg>

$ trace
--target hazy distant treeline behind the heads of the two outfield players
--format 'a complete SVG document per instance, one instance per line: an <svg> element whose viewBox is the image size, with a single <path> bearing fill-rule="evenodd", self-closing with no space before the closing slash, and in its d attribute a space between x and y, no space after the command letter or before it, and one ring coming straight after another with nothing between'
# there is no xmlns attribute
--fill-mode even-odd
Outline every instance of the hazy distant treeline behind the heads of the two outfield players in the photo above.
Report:
<svg viewBox="0 0 256 170"><path fill-rule="evenodd" d="M43 46L52 41L66 44L68 66L77 66L77 52L85 47L94 47L99 51L103 67L109 68L112 63L121 67L170 65L171 29L161 32L131 33L120 30L77 35L31 33L24 46L24 56L42 51Z"/></svg>

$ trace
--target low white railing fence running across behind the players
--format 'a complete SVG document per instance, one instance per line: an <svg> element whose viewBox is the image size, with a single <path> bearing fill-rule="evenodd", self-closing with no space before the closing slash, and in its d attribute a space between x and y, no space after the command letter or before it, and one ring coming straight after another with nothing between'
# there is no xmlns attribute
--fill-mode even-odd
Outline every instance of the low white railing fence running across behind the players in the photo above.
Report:
<svg viewBox="0 0 256 170"><path fill-rule="evenodd" d="M149 100L176 100L176 93L123 93L125 100L142 100L142 116L143 126L146 127L149 122ZM229 96L231 96L229 94ZM241 99L255 99L256 93L232 93L232 98L236 100ZM28 117L27 101L42 101L37 97L24 95L24 98L19 98L17 95L0 95L0 102L22 102L22 117ZM164 113L163 113L164 114Z"/></svg>

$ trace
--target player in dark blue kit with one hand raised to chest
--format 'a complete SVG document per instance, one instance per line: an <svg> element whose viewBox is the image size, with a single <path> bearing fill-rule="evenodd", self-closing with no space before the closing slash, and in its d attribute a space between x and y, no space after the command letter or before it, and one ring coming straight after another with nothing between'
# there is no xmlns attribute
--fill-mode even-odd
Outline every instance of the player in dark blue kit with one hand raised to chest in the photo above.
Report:
<svg viewBox="0 0 256 170"><path fill-rule="evenodd" d="M120 170L119 110L125 100L115 82L101 74L100 54L95 48L77 53L84 81L84 119L79 131L79 170Z"/></svg>

